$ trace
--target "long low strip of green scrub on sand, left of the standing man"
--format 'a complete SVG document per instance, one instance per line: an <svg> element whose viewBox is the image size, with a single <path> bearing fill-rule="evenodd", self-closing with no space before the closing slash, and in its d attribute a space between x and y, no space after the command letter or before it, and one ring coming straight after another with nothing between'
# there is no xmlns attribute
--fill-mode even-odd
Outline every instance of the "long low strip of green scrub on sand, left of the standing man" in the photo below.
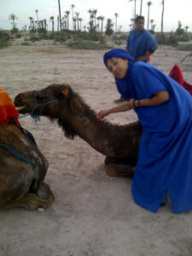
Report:
<svg viewBox="0 0 192 256"><path fill-rule="evenodd" d="M97 44L91 41L77 40L67 44L72 49L113 49L112 46L106 44Z"/></svg>

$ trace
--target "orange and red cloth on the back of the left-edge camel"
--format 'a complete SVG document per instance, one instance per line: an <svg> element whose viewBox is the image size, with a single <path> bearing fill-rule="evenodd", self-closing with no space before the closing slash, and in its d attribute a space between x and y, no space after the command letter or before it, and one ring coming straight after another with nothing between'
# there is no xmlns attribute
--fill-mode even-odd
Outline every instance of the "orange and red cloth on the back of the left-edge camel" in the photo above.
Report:
<svg viewBox="0 0 192 256"><path fill-rule="evenodd" d="M18 116L19 112L16 110L14 102L8 93L0 87L0 125L9 124L11 119ZM16 123L20 125L18 120L16 120Z"/></svg>

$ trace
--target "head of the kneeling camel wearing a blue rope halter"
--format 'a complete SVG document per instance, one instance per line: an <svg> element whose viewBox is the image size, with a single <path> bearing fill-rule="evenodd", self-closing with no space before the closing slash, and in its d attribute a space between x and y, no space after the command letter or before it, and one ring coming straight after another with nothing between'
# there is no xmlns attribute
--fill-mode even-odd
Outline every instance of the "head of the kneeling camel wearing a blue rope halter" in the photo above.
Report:
<svg viewBox="0 0 192 256"><path fill-rule="evenodd" d="M50 84L37 92L35 90L22 92L15 96L15 107L23 114L32 113L35 108L33 113L50 118L57 118L65 109L79 115L84 112L84 102L68 84Z"/></svg>

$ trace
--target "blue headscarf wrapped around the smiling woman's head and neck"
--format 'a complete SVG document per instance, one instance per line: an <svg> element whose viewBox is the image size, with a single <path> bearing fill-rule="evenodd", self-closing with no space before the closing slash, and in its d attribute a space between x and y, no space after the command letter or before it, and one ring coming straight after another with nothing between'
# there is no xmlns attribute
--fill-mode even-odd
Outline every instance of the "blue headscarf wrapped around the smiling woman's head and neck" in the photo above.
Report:
<svg viewBox="0 0 192 256"><path fill-rule="evenodd" d="M134 58L125 50L125 49L111 49L105 55L103 56L103 61L105 63L105 66L107 66L108 58L110 57L116 57L116 58L122 58L129 60L128 64L128 70L125 74L124 79L117 79L115 78L115 83L117 85L117 90L119 90L119 93L121 96L123 96L126 100L129 100L129 71L131 69L131 66L134 62Z"/></svg>

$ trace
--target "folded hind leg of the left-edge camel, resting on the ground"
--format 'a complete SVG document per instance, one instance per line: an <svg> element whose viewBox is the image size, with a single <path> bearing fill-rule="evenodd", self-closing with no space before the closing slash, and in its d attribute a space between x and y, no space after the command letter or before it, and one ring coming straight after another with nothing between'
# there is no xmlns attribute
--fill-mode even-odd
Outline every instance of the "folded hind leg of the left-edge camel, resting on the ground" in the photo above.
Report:
<svg viewBox="0 0 192 256"><path fill-rule="evenodd" d="M38 197L38 195L35 194L27 194L20 201L9 201L6 203L6 205L0 208L9 209L15 207L24 207L27 210L35 210L38 209L39 207L46 208L48 206L49 201L41 199Z"/></svg>

